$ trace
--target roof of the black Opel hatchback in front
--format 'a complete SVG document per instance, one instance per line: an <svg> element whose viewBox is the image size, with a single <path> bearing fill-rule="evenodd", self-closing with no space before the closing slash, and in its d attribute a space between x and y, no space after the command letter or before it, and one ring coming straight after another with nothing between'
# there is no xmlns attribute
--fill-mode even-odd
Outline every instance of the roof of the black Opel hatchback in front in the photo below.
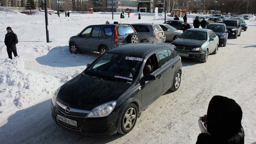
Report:
<svg viewBox="0 0 256 144"><path fill-rule="evenodd" d="M107 53L121 53L124 55L133 55L144 58L153 51L167 47L171 48L169 44L135 43L111 49Z"/></svg>

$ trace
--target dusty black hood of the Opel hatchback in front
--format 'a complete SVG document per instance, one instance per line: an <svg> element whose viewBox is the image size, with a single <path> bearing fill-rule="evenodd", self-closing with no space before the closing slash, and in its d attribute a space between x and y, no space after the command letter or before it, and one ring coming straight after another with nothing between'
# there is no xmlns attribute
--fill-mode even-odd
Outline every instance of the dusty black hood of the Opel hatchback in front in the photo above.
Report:
<svg viewBox="0 0 256 144"><path fill-rule="evenodd" d="M130 84L81 73L61 86L57 99L72 108L90 110L99 104L114 100Z"/></svg>

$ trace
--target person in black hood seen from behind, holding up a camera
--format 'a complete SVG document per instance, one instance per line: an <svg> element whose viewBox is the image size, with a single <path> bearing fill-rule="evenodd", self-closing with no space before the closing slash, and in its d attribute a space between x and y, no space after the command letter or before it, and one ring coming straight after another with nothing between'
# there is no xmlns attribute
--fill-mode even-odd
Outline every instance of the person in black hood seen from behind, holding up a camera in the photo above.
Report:
<svg viewBox="0 0 256 144"><path fill-rule="evenodd" d="M198 135L196 144L244 144L242 115L235 100L214 96L207 110L206 132Z"/></svg>

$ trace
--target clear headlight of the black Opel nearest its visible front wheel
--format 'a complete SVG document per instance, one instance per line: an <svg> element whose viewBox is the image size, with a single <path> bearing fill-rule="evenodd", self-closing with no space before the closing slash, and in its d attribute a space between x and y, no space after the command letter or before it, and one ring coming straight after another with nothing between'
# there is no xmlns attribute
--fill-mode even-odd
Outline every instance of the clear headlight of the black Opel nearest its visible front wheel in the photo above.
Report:
<svg viewBox="0 0 256 144"><path fill-rule="evenodd" d="M96 106L90 111L87 117L106 117L113 111L116 104L117 101L111 101L100 106Z"/></svg>

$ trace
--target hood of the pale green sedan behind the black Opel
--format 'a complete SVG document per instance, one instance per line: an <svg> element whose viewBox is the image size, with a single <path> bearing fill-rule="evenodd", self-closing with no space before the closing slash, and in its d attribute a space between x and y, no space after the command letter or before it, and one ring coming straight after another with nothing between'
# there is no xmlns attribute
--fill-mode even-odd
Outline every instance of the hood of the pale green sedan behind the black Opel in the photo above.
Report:
<svg viewBox="0 0 256 144"><path fill-rule="evenodd" d="M192 40L185 38L178 38L172 42L175 46L184 46L184 47L201 47L207 40Z"/></svg>

